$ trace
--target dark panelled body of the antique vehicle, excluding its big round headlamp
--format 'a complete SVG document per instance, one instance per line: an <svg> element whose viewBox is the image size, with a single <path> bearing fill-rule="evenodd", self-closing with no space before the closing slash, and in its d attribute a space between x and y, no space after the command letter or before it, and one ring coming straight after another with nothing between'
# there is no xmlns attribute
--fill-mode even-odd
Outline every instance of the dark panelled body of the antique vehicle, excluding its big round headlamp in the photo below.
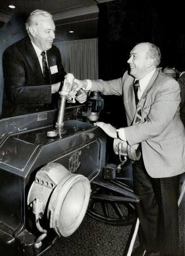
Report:
<svg viewBox="0 0 185 256"><path fill-rule="evenodd" d="M54 139L46 133L54 129L55 110L0 121L0 239L1 248L8 246L9 255L13 255L11 248L12 252L16 248L18 253L32 253L29 247L38 232L30 224L33 214L28 209L27 197L41 167L62 163L71 173L80 173L92 181L105 166L105 134L79 121L80 112L78 106L66 109L66 133Z"/></svg>

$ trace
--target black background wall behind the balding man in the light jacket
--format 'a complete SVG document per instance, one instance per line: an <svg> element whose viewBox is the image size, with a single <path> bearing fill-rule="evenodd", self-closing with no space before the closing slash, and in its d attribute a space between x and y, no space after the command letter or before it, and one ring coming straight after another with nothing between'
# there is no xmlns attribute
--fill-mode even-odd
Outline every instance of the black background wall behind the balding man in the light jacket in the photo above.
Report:
<svg viewBox="0 0 185 256"><path fill-rule="evenodd" d="M98 5L99 78L119 78L128 69L130 50L149 41L160 47L161 67L182 66L185 70L185 1L117 0ZM125 126L122 97L105 96L110 122Z"/></svg>

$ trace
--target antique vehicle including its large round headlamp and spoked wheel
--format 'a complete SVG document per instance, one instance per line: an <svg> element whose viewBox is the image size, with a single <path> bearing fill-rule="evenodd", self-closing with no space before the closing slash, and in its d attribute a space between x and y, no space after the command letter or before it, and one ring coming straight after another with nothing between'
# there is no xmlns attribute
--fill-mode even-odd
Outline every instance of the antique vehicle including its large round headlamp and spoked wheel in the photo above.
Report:
<svg viewBox="0 0 185 256"><path fill-rule="evenodd" d="M124 219L118 204L116 219L109 217L106 208L105 216L97 214L97 200L105 201L107 195L97 195L96 191L111 190L107 199L111 204L122 200L131 206L138 201L129 188L110 186L109 180L115 182L116 177L114 167L105 168L106 135L99 127L82 121L82 106L66 108L63 133L50 136L57 115L57 110L50 110L0 121L1 255L40 255L57 237L75 232L87 210L91 190L89 216L112 225ZM102 182L103 170L107 185ZM121 224L133 220L135 216Z"/></svg>

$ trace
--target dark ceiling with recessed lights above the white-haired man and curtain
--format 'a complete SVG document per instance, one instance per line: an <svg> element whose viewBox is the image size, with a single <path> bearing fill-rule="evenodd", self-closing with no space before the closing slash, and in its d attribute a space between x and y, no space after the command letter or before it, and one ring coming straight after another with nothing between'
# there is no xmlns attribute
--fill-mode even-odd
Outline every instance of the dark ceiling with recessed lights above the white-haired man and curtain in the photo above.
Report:
<svg viewBox="0 0 185 256"><path fill-rule="evenodd" d="M42 9L53 15L57 41L94 38L97 37L97 4L109 1L114 0L54 0L54 4L52 0L0 0L0 24L2 27L12 20L25 22L33 10Z"/></svg>

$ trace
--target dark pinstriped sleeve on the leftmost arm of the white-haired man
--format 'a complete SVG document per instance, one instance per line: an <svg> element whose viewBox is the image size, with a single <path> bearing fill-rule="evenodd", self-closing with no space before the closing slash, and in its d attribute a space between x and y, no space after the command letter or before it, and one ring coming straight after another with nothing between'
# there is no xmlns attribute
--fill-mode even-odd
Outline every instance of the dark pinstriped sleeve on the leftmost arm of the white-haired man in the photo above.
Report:
<svg viewBox="0 0 185 256"><path fill-rule="evenodd" d="M32 83L31 71L28 74L25 58L18 49L12 47L3 54L3 75L8 99L14 104L51 103L51 86Z"/></svg>

